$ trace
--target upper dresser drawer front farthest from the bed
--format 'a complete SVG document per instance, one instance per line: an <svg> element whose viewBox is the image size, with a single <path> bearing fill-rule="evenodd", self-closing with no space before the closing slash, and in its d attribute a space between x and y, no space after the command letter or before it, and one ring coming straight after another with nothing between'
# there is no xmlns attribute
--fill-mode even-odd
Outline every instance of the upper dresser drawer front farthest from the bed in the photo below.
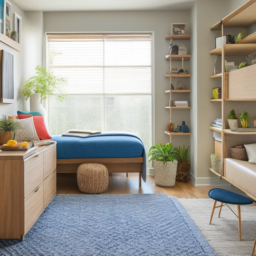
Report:
<svg viewBox="0 0 256 256"><path fill-rule="evenodd" d="M24 197L34 190L44 175L44 155L40 153L24 160Z"/></svg>

